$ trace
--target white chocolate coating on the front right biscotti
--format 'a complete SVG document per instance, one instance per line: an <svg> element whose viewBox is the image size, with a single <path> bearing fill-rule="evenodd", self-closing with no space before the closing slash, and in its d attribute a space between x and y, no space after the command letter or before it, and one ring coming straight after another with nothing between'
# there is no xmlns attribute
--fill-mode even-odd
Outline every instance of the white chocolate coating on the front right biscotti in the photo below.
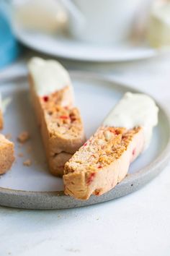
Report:
<svg viewBox="0 0 170 256"><path fill-rule="evenodd" d="M148 148L153 127L158 124L158 107L151 97L140 93L125 93L103 122L110 127L143 127L145 144Z"/></svg>

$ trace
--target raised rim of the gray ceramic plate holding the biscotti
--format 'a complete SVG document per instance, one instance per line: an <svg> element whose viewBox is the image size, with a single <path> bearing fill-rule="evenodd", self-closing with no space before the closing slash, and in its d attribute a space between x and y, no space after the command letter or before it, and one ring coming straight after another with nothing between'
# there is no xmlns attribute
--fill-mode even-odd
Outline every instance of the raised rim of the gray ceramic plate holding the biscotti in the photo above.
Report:
<svg viewBox="0 0 170 256"><path fill-rule="evenodd" d="M131 87L130 85L125 85L125 82L117 82L115 80L112 80L109 77L105 77L102 74L97 74L97 73L89 73L89 72L79 72L79 71L69 71L71 77L75 77L75 78L82 78L85 77L86 79L92 79L92 80L98 80L99 82L108 82L109 85L114 85L115 87L120 87L123 90L130 90L134 93L144 93L142 90L138 90L136 88ZM1 88L1 83L3 82L10 82L10 81L14 81L14 80L20 80L20 79L26 79L27 74L17 74L17 75L12 75L11 77L6 76L3 77L3 79L0 79L0 88ZM150 95L147 93L147 95ZM157 101L152 95L151 97L156 101L156 104L158 105L158 108L161 109L161 111L163 111L164 116L166 116L166 121L168 126L170 127L170 113L168 111L168 108L166 108L165 106L162 106L161 103L159 103L159 101ZM136 172L135 174L129 174L128 176L125 177L125 179L122 180L122 182L120 182L120 184L117 184L116 188L118 187L123 187L126 186L127 184L133 184L134 182L139 182L140 179L144 178L145 176L148 176L149 173L153 172L153 169L156 168L158 169L158 173L161 172L161 168L164 168L164 166L166 166L166 164L169 162L170 160L170 132L169 132L169 140L166 143L166 147L164 148L164 150L161 151L161 153L151 162L149 163L147 166L141 168L138 172ZM139 175L140 174L140 175ZM153 177L150 177L148 179L148 182L153 179L155 176L157 176L158 174L153 174ZM144 184L148 183L145 182ZM142 185L143 186L143 185ZM111 189L109 192L112 192L115 188ZM137 188L138 189L138 188ZM137 189L133 189L133 191L137 190ZM133 192L132 191L132 192ZM107 193L109 193L107 192ZM107 193L105 193L104 195L107 195ZM125 193L125 195L129 194ZM16 196L16 197L53 197L53 196L57 196L57 197L69 197L67 195L64 194L63 191L54 191L54 192L40 192L40 191L26 191L26 190L20 190L20 189L9 189L9 188L4 188L4 187L0 187L0 196L4 195L4 196ZM122 196L122 195L121 195ZM91 197L95 197L95 196L91 196ZM71 198L71 197L69 197ZM112 200L113 198L109 199ZM73 199L74 200L74 199ZM75 202L77 202L79 200L75 200ZM96 200L97 201L97 200ZM85 201L81 201L81 202L85 202ZM88 200L86 201L88 202ZM99 202L105 202L104 201L99 201ZM89 203L90 204L94 204L93 203ZM98 202L96 202L98 203ZM5 204L2 204L5 205ZM87 205L86 203L80 205L80 206L84 206ZM6 205L9 206L9 205ZM14 207L14 206L13 206ZM26 208L26 207L24 207ZM42 208L41 208L42 209ZM47 209L47 208L43 208L43 209Z"/></svg>

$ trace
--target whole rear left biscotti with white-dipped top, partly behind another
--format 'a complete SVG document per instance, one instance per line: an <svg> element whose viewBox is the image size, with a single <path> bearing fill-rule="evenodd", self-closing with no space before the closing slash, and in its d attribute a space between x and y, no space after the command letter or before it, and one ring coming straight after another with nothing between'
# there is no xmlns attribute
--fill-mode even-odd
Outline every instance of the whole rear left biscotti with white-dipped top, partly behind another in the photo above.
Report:
<svg viewBox="0 0 170 256"><path fill-rule="evenodd" d="M71 80L58 61L33 58L28 68L32 103L50 172L62 176L66 161L85 140L79 109L73 106Z"/></svg>

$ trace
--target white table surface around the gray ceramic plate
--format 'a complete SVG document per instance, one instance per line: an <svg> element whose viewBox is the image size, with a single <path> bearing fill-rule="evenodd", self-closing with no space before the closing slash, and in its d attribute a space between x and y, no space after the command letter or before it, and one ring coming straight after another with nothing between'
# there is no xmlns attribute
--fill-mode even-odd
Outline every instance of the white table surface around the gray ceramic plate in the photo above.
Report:
<svg viewBox="0 0 170 256"><path fill-rule="evenodd" d="M170 56L105 66L64 63L71 69L107 72L170 109ZM1 70L0 79L19 72L25 72L23 60ZM169 168L137 192L100 205L71 210L0 207L0 255L169 256Z"/></svg>

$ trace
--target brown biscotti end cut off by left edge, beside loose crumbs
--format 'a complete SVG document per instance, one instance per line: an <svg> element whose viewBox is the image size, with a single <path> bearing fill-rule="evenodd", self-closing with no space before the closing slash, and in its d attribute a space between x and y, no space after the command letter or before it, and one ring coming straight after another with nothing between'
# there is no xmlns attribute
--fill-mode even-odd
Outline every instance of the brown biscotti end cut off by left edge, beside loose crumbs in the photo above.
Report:
<svg viewBox="0 0 170 256"><path fill-rule="evenodd" d="M6 173L14 162L14 143L0 135L0 174Z"/></svg>

